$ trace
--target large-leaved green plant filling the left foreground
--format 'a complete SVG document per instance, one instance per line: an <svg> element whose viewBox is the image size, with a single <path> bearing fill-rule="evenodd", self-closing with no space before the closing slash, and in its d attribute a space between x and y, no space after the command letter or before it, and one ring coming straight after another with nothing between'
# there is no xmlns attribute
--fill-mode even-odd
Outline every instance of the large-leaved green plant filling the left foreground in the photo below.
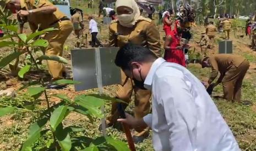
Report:
<svg viewBox="0 0 256 151"><path fill-rule="evenodd" d="M38 38L42 34L54 31L54 28L47 28L42 31L36 31L26 35L24 33L18 33L18 28L15 25L8 25L6 22L1 24L0 27L7 31L0 42L0 48L10 47L14 51L8 56L4 57L0 61L0 69L7 66L10 62L17 59L21 55L29 54L31 63L23 66L18 76L24 78L25 74L31 70L31 67L35 67L40 70L38 61L40 60L53 60L61 63L67 63L68 61L61 56L47 56L41 55L35 57L35 51L42 50L48 46L48 42L45 39ZM12 34L10 34L12 33ZM15 41L14 39L19 39ZM55 84L75 84L73 80L57 80ZM105 101L117 101L115 98L111 98L106 95L78 95L71 100L64 94L54 94L51 97L60 98L62 101L58 104L50 104L50 97L47 94L46 84L41 77L37 82L30 82L24 85L22 89L26 90L26 94L29 95L29 100L23 100L22 98L3 98L0 104L0 117L13 113L14 111L27 112L31 114L37 114L37 120L31 124L28 130L28 137L24 141L20 150L129 150L126 143L114 140L110 137L97 137L89 138L86 136L75 135L80 131L83 131L81 127L64 126L63 121L72 113L78 113L85 115L89 119L92 118L104 118L100 107L104 106ZM44 96L43 99L39 99L40 96ZM5 102L5 100L8 100ZM12 100L12 101L10 101ZM45 101L47 108L38 112L34 107L39 106L40 102ZM26 104L28 103L29 104ZM28 105L30 106L28 108ZM46 144L40 145L40 140L45 140ZM35 147L36 145L36 148Z"/></svg>

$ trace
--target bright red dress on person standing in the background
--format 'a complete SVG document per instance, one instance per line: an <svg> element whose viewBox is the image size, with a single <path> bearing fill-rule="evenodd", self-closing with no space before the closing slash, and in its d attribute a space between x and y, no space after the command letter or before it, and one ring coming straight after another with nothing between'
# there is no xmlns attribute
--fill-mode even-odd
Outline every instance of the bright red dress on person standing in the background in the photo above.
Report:
<svg viewBox="0 0 256 151"><path fill-rule="evenodd" d="M165 50L164 59L168 62L178 63L179 65L186 67L185 55L184 55L183 49L176 49L176 47L180 46L179 42L181 40L181 35L179 35L177 31L178 22L176 21L175 23L176 24L175 24L174 30L171 31L171 34L170 34L170 36L172 37L171 43L170 43L171 50Z"/></svg>

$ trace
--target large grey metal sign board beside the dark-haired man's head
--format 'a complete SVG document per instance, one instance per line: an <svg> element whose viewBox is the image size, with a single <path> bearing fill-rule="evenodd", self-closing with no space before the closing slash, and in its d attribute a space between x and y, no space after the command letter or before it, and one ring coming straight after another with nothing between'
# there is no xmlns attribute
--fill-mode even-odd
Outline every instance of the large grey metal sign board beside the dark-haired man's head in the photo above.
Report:
<svg viewBox="0 0 256 151"><path fill-rule="evenodd" d="M115 65L119 48L90 48L71 50L75 91L98 88L121 82L120 68Z"/></svg>

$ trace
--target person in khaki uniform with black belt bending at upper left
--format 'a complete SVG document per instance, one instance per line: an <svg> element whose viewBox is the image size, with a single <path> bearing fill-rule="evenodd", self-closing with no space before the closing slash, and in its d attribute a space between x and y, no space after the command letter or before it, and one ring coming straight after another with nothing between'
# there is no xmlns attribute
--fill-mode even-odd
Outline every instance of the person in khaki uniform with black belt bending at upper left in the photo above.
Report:
<svg viewBox="0 0 256 151"><path fill-rule="evenodd" d="M45 39L49 42L45 54L48 56L63 55L63 45L73 31L72 22L55 5L47 0L7 0L6 8L17 12L20 18L26 19L32 32L46 28L57 28L49 32ZM48 70L53 80L61 79L64 72L62 63L47 61ZM49 85L48 88L57 88L58 85Z"/></svg>

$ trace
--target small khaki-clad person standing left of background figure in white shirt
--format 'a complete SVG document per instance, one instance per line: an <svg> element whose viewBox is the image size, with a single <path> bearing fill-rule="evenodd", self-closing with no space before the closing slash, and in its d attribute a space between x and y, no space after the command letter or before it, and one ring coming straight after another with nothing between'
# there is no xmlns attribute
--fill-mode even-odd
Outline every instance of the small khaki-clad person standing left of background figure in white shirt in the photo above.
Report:
<svg viewBox="0 0 256 151"><path fill-rule="evenodd" d="M77 35L77 38L79 38L80 34L83 34L83 33L81 33L81 31L84 29L83 18L81 16L80 11L75 10L75 14L72 15L71 21L72 21L73 26L74 26L75 35Z"/></svg>

